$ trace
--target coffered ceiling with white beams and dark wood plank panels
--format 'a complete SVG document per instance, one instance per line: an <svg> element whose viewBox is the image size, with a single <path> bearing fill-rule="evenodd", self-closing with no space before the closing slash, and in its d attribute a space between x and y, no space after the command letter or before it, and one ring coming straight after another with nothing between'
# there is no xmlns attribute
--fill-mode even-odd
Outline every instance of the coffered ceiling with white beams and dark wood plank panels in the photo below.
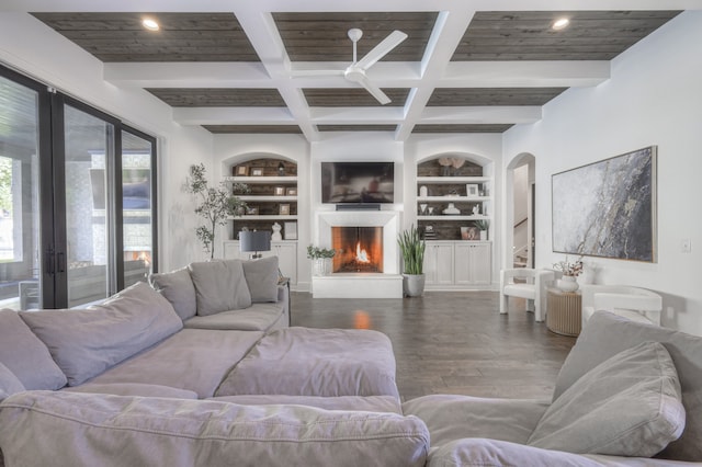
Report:
<svg viewBox="0 0 702 467"><path fill-rule="evenodd" d="M212 133L502 133L541 118L571 87L694 1L671 0L5 0L147 90L183 125ZM699 2L698 7L699 7ZM561 10L567 5L568 10ZM148 11L147 11L148 10ZM160 30L147 31L151 18ZM555 31L556 19L568 27ZM343 76L393 31L407 38L367 70L381 105Z"/></svg>

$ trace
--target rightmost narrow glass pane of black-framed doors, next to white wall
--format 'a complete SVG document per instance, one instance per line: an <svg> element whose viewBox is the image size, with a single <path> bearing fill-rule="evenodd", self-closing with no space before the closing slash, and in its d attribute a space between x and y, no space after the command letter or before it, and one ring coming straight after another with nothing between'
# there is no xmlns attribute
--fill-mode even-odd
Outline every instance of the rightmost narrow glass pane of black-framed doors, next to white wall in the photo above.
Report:
<svg viewBox="0 0 702 467"><path fill-rule="evenodd" d="M122 235L124 286L146 281L151 272L151 141L122 132Z"/></svg>

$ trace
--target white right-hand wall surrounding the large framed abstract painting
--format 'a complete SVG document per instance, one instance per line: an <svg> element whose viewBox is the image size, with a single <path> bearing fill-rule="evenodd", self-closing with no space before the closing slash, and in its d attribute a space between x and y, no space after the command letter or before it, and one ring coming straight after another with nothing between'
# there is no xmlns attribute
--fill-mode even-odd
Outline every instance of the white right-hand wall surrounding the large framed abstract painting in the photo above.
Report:
<svg viewBox="0 0 702 467"><path fill-rule="evenodd" d="M612 61L612 78L571 89L544 118L503 137L506 168L536 158L536 266L551 266L551 175L650 145L658 146L656 263L586 258L595 281L664 296L663 323L702 334L702 12L684 12ZM692 251L681 252L682 239Z"/></svg>

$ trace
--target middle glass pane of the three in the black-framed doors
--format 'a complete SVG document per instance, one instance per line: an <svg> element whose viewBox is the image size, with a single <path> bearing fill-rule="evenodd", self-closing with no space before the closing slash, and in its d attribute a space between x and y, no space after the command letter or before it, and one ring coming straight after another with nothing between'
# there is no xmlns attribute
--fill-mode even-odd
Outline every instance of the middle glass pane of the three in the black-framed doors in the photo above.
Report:
<svg viewBox="0 0 702 467"><path fill-rule="evenodd" d="M68 307L110 295L111 206L106 161L114 148L114 127L70 105L64 111L66 258L57 259L67 272Z"/></svg>

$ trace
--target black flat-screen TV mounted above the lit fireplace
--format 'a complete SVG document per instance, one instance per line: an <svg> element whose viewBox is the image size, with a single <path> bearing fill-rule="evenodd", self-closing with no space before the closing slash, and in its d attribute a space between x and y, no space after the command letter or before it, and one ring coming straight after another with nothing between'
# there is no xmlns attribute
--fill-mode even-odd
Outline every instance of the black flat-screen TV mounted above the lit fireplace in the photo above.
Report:
<svg viewBox="0 0 702 467"><path fill-rule="evenodd" d="M394 162L321 162L321 202L394 203Z"/></svg>

